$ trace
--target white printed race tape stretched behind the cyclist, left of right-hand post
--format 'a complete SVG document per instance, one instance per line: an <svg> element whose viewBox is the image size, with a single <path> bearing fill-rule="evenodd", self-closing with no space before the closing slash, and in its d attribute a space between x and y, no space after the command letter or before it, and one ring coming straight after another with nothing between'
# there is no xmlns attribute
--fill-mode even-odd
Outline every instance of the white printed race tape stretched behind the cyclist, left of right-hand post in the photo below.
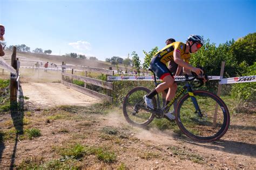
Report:
<svg viewBox="0 0 256 170"><path fill-rule="evenodd" d="M156 77L157 81L161 81L158 77ZM220 80L220 76L208 76L209 80ZM107 76L107 80L109 81L154 81L154 76ZM185 76L174 76L175 81L183 81L185 80Z"/></svg>

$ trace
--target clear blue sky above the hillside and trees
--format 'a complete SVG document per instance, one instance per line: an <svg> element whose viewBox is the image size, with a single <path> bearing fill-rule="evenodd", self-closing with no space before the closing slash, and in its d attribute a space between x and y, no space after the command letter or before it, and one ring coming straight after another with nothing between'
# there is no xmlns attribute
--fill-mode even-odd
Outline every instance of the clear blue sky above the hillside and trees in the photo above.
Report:
<svg viewBox="0 0 256 170"><path fill-rule="evenodd" d="M6 1L0 24L8 45L79 53L105 60L185 42L199 34L217 45L256 32L256 1Z"/></svg>

